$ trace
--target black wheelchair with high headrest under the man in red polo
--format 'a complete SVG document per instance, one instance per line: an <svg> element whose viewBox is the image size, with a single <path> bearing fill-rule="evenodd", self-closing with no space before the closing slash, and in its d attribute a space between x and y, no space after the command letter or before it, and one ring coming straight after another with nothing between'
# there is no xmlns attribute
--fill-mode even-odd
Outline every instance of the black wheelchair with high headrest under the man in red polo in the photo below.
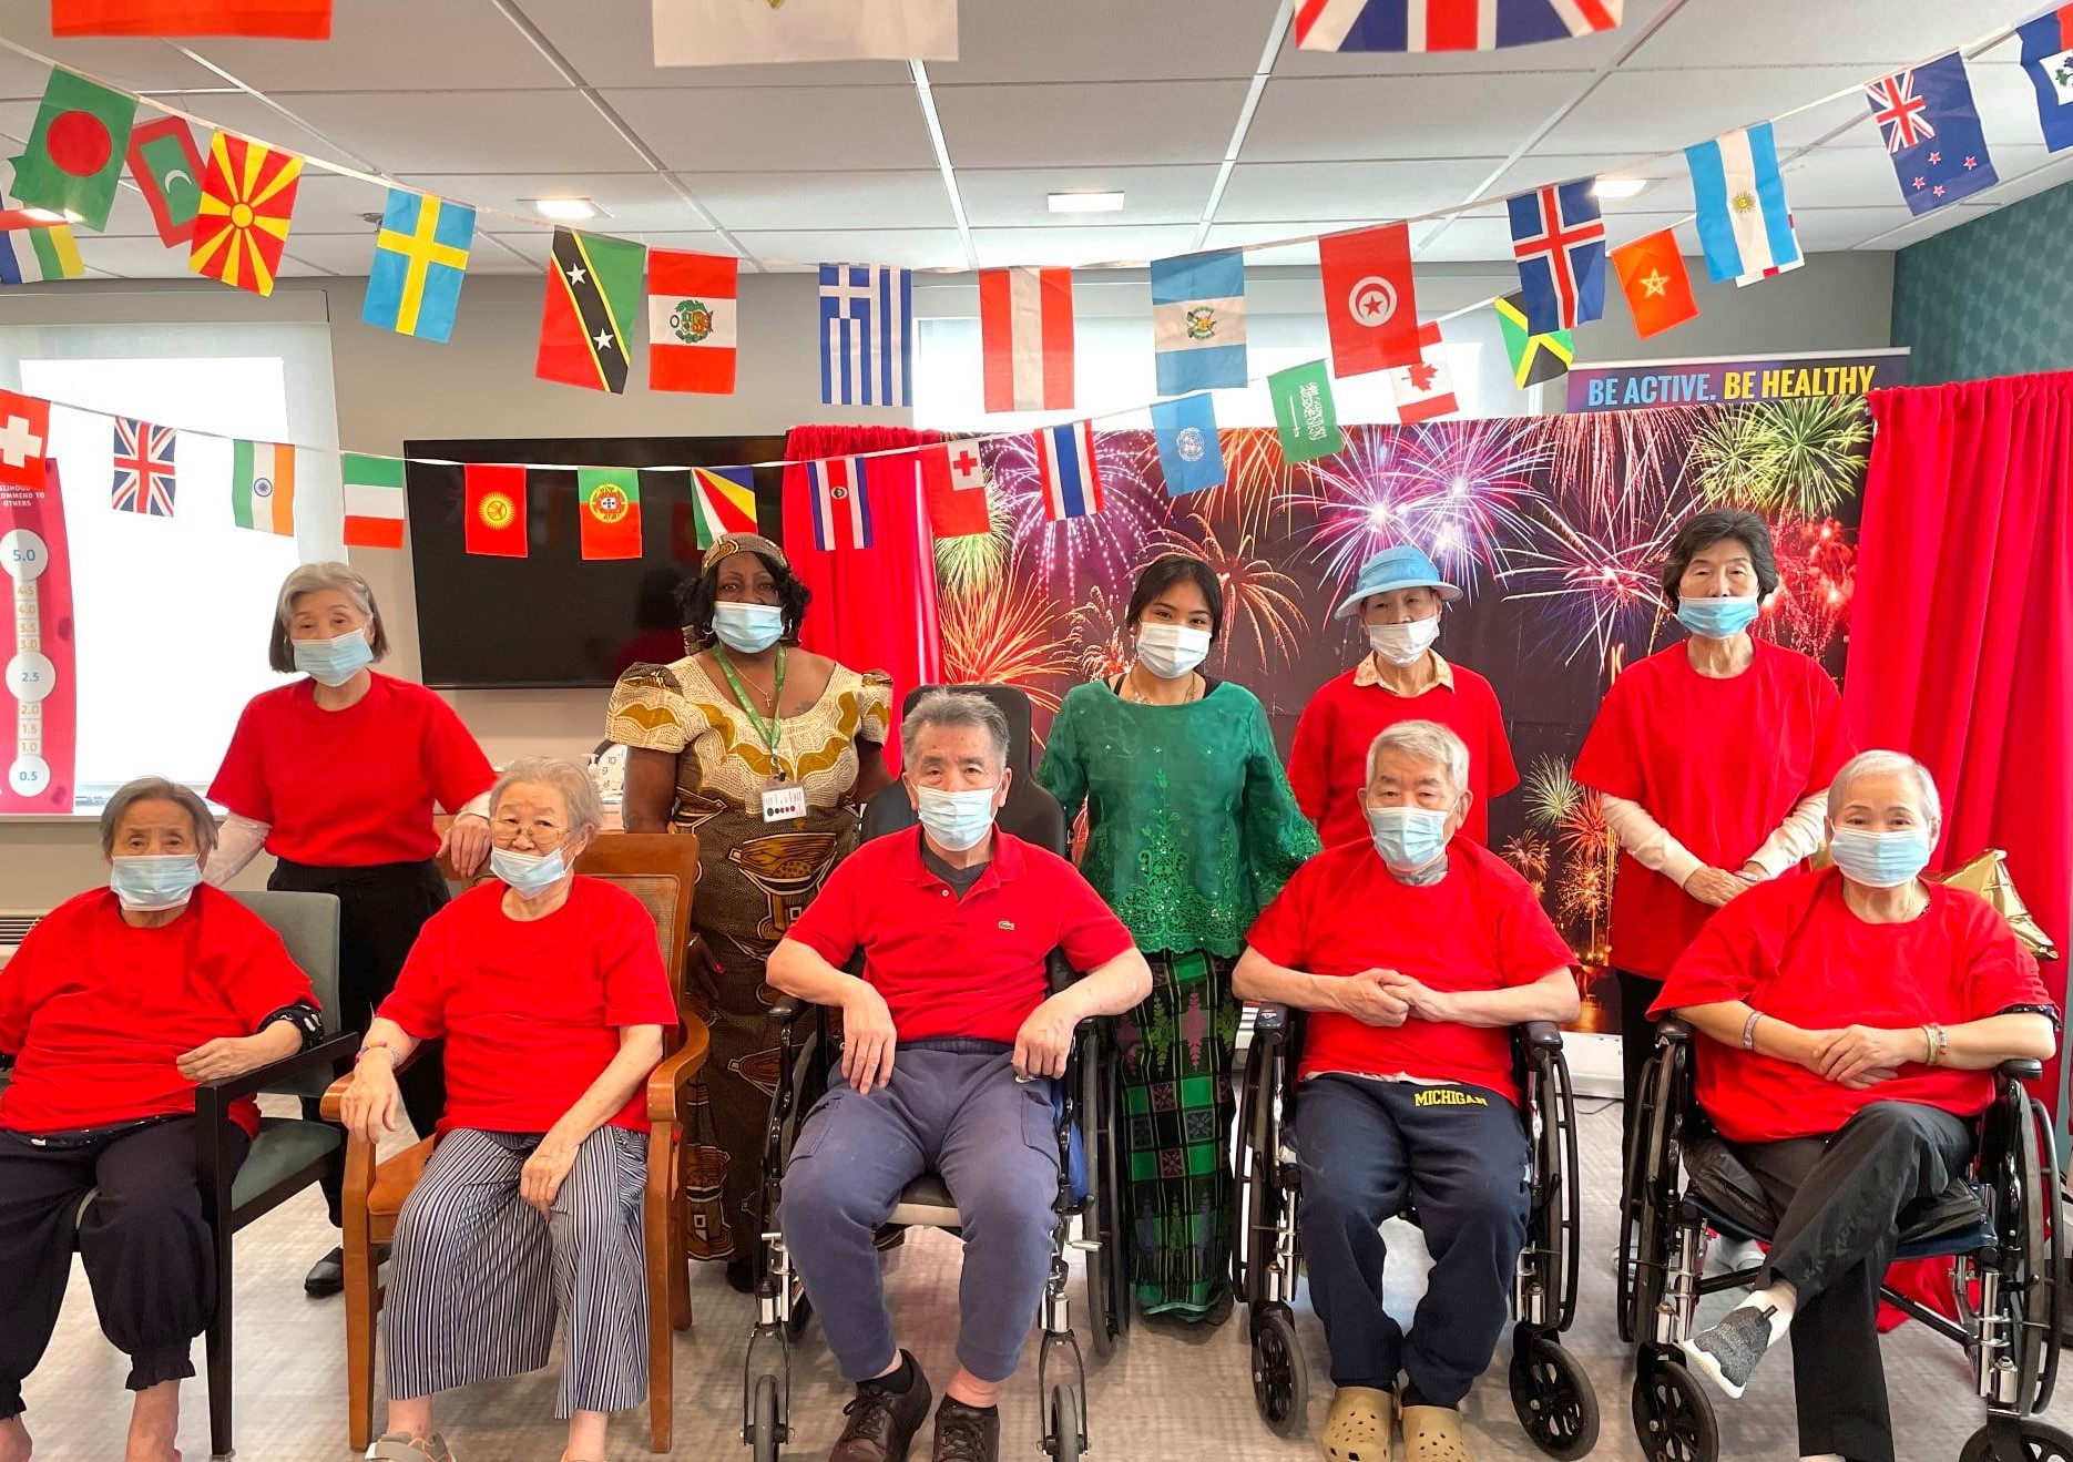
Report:
<svg viewBox="0 0 2073 1462"><path fill-rule="evenodd" d="M914 701L937 686L920 686ZM985 695L1007 715L1007 769L1014 782L997 825L1024 842L1066 852L1066 819L1032 776L1028 697L1007 686L958 684L949 691ZM864 807L864 838L893 836L916 825L906 788L898 782ZM860 973L854 960L850 973ZM1063 954L1051 954L1049 983L1057 991L1078 975ZM842 1033L825 1008L802 1008L779 1000L773 1014L784 1024L779 1080L763 1151L761 1244L757 1248L757 1323L742 1365L742 1443L755 1462L775 1462L792 1439L792 1344L811 1319L811 1302L777 1228L784 1165L798 1128L827 1091L827 1074L842 1060ZM1051 1269L1045 1280L1039 1323L1036 1389L1043 1398L1043 1452L1057 1462L1076 1462L1088 1452L1086 1365L1074 1333L1068 1296L1068 1253L1084 1257L1088 1342L1095 1356L1107 1356L1130 1323L1130 1290L1124 1275L1121 1215L1121 1130L1115 1097L1115 1049L1109 1022L1082 1020L1066 1074L1057 1080L1059 1192L1057 1228L1051 1238ZM958 1232L958 1207L937 1174L922 1174L900 1194L881 1240L906 1228Z"/></svg>

